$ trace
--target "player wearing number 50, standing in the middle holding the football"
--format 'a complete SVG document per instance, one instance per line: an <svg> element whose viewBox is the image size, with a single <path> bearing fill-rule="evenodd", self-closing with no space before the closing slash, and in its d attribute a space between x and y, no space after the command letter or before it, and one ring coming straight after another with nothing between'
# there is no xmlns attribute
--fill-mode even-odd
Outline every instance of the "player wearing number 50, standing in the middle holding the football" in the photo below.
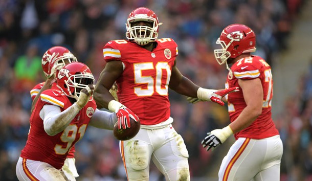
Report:
<svg viewBox="0 0 312 181"><path fill-rule="evenodd" d="M152 10L137 8L126 22L128 40L108 41L103 48L107 63L95 87L97 106L116 112L123 129L130 126L129 117L141 122L134 138L120 141L128 180L149 180L150 160L166 180L190 180L188 151L171 125L168 88L220 105L223 96L236 90L206 89L184 77L176 67L177 44L157 39L160 25ZM108 91L115 81L119 102Z"/></svg>

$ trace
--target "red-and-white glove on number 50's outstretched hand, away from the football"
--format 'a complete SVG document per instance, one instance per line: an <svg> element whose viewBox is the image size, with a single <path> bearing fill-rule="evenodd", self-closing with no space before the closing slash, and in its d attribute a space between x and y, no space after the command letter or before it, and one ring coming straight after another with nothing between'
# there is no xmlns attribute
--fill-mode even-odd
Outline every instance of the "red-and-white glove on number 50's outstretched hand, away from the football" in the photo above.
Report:
<svg viewBox="0 0 312 181"><path fill-rule="evenodd" d="M238 87L231 87L228 89L221 89L221 90L199 87L197 90L197 98L204 100L204 101L216 102L220 104L221 106L224 106L224 102L221 101L221 98L227 94L230 94L232 92L237 92L237 91L239 91Z"/></svg>

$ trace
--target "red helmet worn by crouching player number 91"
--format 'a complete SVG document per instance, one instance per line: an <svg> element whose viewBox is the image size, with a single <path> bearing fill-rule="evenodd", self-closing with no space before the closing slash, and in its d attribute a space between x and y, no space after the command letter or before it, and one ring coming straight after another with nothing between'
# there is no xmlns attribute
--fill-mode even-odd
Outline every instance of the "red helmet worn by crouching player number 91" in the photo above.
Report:
<svg viewBox="0 0 312 181"><path fill-rule="evenodd" d="M80 90L87 85L94 84L94 81L87 65L81 62L72 62L63 66L59 71L56 85L66 96L78 100Z"/></svg>

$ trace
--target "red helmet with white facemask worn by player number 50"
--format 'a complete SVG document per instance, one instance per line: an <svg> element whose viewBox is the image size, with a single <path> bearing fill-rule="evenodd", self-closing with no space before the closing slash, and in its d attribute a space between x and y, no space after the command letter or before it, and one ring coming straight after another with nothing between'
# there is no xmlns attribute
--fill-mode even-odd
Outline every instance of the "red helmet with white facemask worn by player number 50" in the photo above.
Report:
<svg viewBox="0 0 312 181"><path fill-rule="evenodd" d="M137 21L147 21L152 26L132 26L132 23ZM126 37L129 41L134 40L140 46L144 46L157 39L160 25L162 23L158 21L157 15L152 10L144 7L137 8L128 16Z"/></svg>

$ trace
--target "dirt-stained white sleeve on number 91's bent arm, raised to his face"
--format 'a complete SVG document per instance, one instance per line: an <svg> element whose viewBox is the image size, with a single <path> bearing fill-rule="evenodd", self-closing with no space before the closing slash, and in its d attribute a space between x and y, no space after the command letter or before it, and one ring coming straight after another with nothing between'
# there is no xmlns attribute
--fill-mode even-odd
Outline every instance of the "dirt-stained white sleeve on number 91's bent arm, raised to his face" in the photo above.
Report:
<svg viewBox="0 0 312 181"><path fill-rule="evenodd" d="M62 112L58 106L44 105L40 110L44 131L51 136L63 131L75 118L79 110L76 103Z"/></svg>

